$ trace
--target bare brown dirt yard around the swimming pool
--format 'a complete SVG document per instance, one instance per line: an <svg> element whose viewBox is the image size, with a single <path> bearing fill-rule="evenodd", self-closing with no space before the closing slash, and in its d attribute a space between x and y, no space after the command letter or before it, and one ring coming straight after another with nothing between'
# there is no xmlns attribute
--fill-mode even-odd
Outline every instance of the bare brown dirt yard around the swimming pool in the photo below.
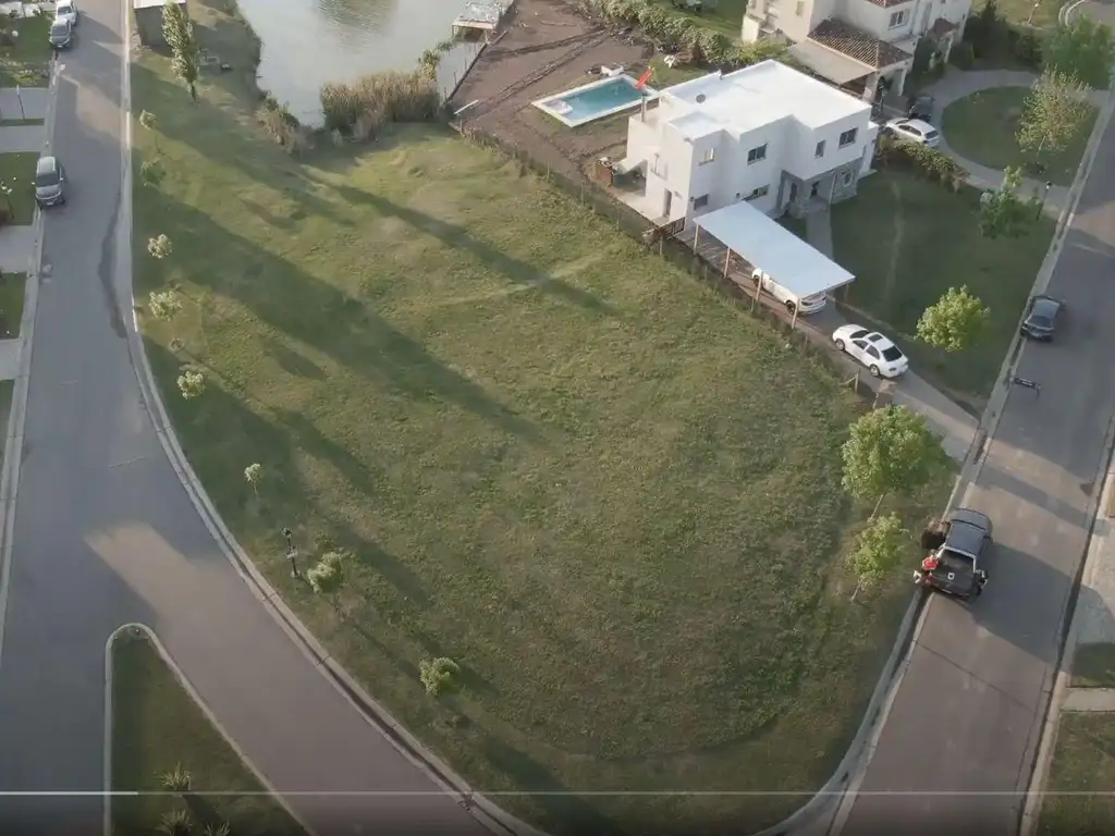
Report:
<svg viewBox="0 0 1115 836"><path fill-rule="evenodd" d="M653 46L615 36L561 0L517 0L506 33L481 55L449 104L454 110L471 105L462 114L463 127L529 149L541 165L588 183L589 163L614 156L626 144L631 114L570 128L532 103L588 84L594 78L590 71L601 65L642 74Z"/></svg>

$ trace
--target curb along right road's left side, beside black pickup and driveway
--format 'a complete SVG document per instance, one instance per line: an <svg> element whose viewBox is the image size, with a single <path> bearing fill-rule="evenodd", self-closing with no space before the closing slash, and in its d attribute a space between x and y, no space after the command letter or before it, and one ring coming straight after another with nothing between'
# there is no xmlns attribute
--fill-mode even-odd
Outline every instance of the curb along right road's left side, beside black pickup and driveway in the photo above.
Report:
<svg viewBox="0 0 1115 836"><path fill-rule="evenodd" d="M1077 0L1076 4L1079 2L1084 2L1084 0ZM1060 257L1060 252L1065 245L1065 239L1068 235L1068 226L1072 224L1073 217L1076 215L1076 206L1080 201L1080 193L1084 191L1084 184L1087 182L1088 175L1092 172L1092 166L1095 163L1099 142L1111 121L1113 109L1115 109L1115 81L1113 81L1103 110L1096 118L1096 124L1092 129L1092 135L1088 137L1088 144L1085 146L1084 157L1080 161L1080 165L1076 169L1076 176L1073 179L1073 184L1069 186L1065 205L1061 207L1060 213L1057 216L1057 226L1054 231L1053 240L1049 243L1049 249L1046 251L1046 256L1043 260L1040 268L1038 268L1031 294L1041 293L1049 285L1053 271L1056 268L1057 260ZM1019 324L1021 324L1025 315L1026 313L1024 310L1019 317ZM998 380L995 388L991 390L991 396L988 398L987 407L985 408L979 426L977 427L976 436L972 438L971 446L968 449L968 455L966 456L964 464L961 467L960 476L957 478L952 493L946 504L946 514L952 509L959 499L967 495L968 489L976 484L976 480L983 468L983 463L987 460L991 446L995 443L995 434L999 427L999 419L1010 399L1010 378L1014 376L1014 369L1017 368L1018 362L1021 360L1021 336L1016 328L1010 347L1004 357L1002 364L999 367ZM825 829L827 836L837 836L837 834L840 834L844 822L846 822L847 816L851 814L851 807L854 804L855 788L863 780L867 765L871 762L870 755L878 745L886 717L890 713L891 704L893 703L894 697L896 696L899 687L902 683L902 677L905 673L905 669L910 660L910 650L914 647L914 644L917 644L917 638L924 621L923 615L925 613L925 601L927 596L924 591L919 590L914 593L913 601L910 602L905 616L902 619L902 623L899 626L899 635L895 639L894 648L891 651L891 655L886 660L883 673L879 679L879 683L875 686L875 691L872 693L871 701L867 703L867 710L864 713L863 722L861 723L855 738L853 738L847 754L844 756L843 760L841 760L835 775L812 799L805 804L804 807L799 808L796 813L789 816L789 818L784 819L774 827L759 832L755 836L787 836L787 834L791 834L806 825L816 824L825 815L832 815L833 817L828 827ZM828 809L828 807L834 804L833 796L838 796L840 798L840 800L835 803L835 810Z"/></svg>

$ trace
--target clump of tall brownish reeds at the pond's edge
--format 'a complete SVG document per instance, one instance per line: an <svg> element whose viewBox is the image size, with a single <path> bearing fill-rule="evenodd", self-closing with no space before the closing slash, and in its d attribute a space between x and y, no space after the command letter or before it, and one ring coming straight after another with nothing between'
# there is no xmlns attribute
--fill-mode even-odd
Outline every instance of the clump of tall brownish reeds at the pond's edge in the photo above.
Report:
<svg viewBox="0 0 1115 836"><path fill-rule="evenodd" d="M442 101L434 80L414 72L377 72L352 84L327 84L321 88L321 110L327 130L351 135L357 121L432 121Z"/></svg>

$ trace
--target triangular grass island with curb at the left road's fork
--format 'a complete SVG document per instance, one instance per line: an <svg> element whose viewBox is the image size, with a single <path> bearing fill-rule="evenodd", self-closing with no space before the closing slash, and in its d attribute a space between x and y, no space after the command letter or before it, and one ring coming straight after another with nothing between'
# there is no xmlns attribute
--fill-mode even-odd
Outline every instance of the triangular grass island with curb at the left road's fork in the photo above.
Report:
<svg viewBox="0 0 1115 836"><path fill-rule="evenodd" d="M143 634L117 636L113 654L113 832L158 832L163 816L187 810L193 833L227 823L236 836L304 832L248 769ZM191 790L164 791L182 768ZM242 794L242 795L240 795Z"/></svg>

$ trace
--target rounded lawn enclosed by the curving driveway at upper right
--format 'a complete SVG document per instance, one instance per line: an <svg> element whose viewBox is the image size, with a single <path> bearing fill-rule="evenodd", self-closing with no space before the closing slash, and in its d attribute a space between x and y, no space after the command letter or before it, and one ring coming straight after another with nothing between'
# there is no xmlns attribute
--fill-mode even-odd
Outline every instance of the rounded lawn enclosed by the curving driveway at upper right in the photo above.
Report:
<svg viewBox="0 0 1115 836"><path fill-rule="evenodd" d="M1096 108L1089 108L1088 117L1064 150L1041 155L1046 173L1038 175L1034 173L1034 163L1038 157L1024 154L1016 138L1028 94L1029 89L1025 87L997 87L953 101L941 116L944 140L957 154L979 165L998 169L1020 165L1028 177L1049 179L1060 186L1070 185L1092 136Z"/></svg>

